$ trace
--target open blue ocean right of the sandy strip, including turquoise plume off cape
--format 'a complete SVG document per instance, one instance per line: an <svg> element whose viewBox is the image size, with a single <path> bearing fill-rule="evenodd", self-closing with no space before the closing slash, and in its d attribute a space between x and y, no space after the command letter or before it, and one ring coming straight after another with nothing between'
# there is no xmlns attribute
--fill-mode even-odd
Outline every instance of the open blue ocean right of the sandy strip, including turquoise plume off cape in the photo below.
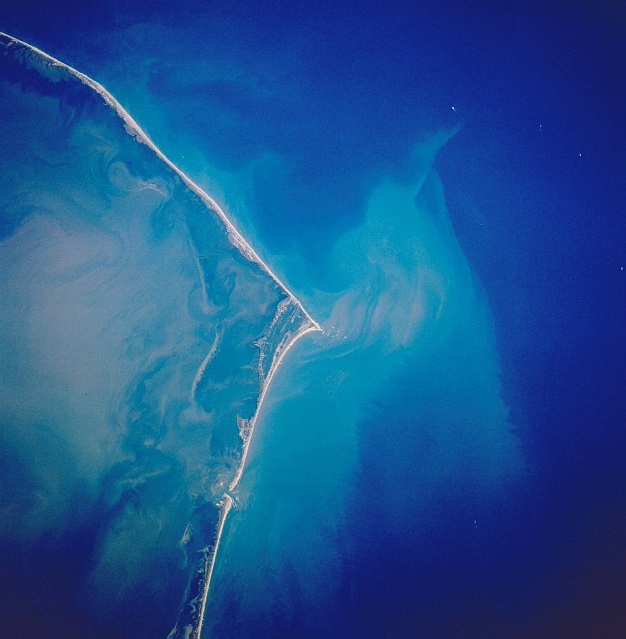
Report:
<svg viewBox="0 0 626 639"><path fill-rule="evenodd" d="M0 31L111 91L324 329L203 639L626 636L622 3L10 0ZM101 515L1 542L11 636L167 636L169 555L171 604L77 603Z"/></svg>

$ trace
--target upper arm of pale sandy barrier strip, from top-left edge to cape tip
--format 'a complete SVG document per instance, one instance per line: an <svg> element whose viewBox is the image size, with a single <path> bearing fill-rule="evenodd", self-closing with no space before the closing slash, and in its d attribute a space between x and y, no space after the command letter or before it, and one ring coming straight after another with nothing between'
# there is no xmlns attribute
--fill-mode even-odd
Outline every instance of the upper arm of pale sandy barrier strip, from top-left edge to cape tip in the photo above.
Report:
<svg viewBox="0 0 626 639"><path fill-rule="evenodd" d="M161 149L159 149L159 147L150 139L150 136L139 126L139 124L133 119L130 113L126 111L126 109L117 101L117 99L111 93L109 93L109 91L107 91L100 83L96 82L88 75L85 75L77 69L74 69L74 67L61 62L60 60L57 60L50 54L42 51L41 49L38 49L28 42L24 42L23 40L14 38L8 33L4 33L2 31L0 31L0 37L5 37L15 44L27 47L31 51L35 51L37 54L39 54L41 57L43 57L54 66L59 66L63 69L66 69L72 75L77 77L81 82L91 87L96 93L98 93L124 121L127 129L130 129L129 133L134 135L135 138L138 139L138 141L146 144L146 146L148 146L159 159L165 162L165 164L167 164L183 180L183 182L208 206L208 208L217 213L222 222L224 222L224 224L226 225L226 229L228 230L228 235L231 239L231 242L241 251L241 253L250 261L256 262L278 284L278 286L280 286L280 288L285 291L285 293L293 300L293 302L298 306L302 313L304 313L306 318L311 322L316 330L322 330L320 325L307 313L300 300L298 300L298 298L291 292L291 290L280 280L280 278L272 271L272 269L270 269L270 267L261 259L258 253L244 239L244 237L237 230L235 225L230 221L219 204L206 191L204 191L204 189L196 184L184 171L178 168L178 166L176 166L163 153L163 151L161 151Z"/></svg>

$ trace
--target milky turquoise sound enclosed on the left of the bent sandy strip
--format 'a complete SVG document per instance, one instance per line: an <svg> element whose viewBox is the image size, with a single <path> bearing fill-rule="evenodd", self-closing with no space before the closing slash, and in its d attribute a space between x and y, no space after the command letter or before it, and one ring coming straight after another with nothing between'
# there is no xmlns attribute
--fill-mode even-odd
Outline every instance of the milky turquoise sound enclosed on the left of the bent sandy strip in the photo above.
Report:
<svg viewBox="0 0 626 639"><path fill-rule="evenodd" d="M272 362L309 320L112 98L0 46L7 590L60 593L7 625L184 636Z"/></svg>

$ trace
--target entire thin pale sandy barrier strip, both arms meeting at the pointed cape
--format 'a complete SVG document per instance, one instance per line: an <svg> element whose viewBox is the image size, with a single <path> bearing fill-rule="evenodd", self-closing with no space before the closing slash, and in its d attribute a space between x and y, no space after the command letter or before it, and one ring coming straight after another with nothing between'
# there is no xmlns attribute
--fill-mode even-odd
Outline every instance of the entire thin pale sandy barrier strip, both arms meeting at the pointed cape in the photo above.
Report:
<svg viewBox="0 0 626 639"><path fill-rule="evenodd" d="M252 419L250 420L250 429L249 429L248 435L247 435L247 437L245 439L243 439L243 447L242 447L242 452L241 452L241 459L239 461L239 464L238 464L238 467L237 467L237 471L235 473L235 476L234 476L233 480L228 485L228 490L224 494L223 502L222 502L222 504L220 506L220 517L219 517L218 524L217 524L217 527L216 527L215 544L213 546L212 552L210 554L207 554L207 557L205 559L205 568L204 568L205 582L204 582L204 588L203 588L203 593L202 593L202 600L201 600L201 603L200 603L200 615L198 617L197 626L192 630L192 634L191 634L191 637L193 637L194 639L200 639L200 636L201 636L201 633L202 633L202 626L203 626L203 623L204 623L204 612L205 612L206 603L207 603L207 600L208 600L208 595L209 595L209 590L210 590L210 585L211 585L211 578L213 576L213 571L214 571L214 568L215 568L215 563L216 563L217 552L218 552L218 549L219 549L220 540L221 540L221 537L222 537L222 533L223 533L223 530L224 530L224 526L225 526L225 523L226 523L226 519L227 519L228 513L230 512L231 508L235 505L235 499L231 496L230 493L237 488L237 485L239 484L239 481L241 480L241 477L243 475L243 471L244 471L244 468L245 468L245 465L246 465L246 461L247 461L247 457L248 457L248 450L249 450L249 447L250 447L250 442L252 441L252 437L254 435L254 430L255 430L255 427L256 427L257 419L258 419L260 411L261 411L261 409L263 407L263 402L264 402L265 396L266 396L267 391L269 389L269 386L270 386L270 384L272 382L274 374L276 373L276 370L278 369L278 367L282 363L285 355L289 352L291 347L301 337L303 337L307 333L311 333L311 332L322 332L323 333L323 329L318 324L318 322L316 322L309 315L309 313L306 311L306 309L302 306L302 303L300 302L300 300L298 300L298 298L291 292L291 290L280 280L280 278L261 259L261 257L258 255L258 253L252 248L252 246L250 246L250 244L244 239L244 237L241 235L241 233L235 227L235 225L230 221L230 219L224 213L224 211L219 206L219 204L206 191L204 191L198 184L196 184L184 171L182 171L178 166L176 166L159 149L159 147L150 139L148 134L133 119L133 117L130 115L130 113L128 113L128 111L117 101L117 99L109 91L107 91L107 89L105 89L104 86L102 86L100 83L96 82L95 80L93 80L89 76L85 75L84 73L81 73L80 71L74 69L70 65L65 64L64 62L61 62L57 58L54 58L53 56L49 55L45 51L42 51L41 49L29 44L28 42L25 42L23 40L15 38L15 37L13 37L13 36L11 36L11 35L9 35L7 33L4 33L2 31L0 31L0 38L6 38L9 41L9 43L8 43L9 45L14 44L14 45L18 45L18 46L21 46L21 47L25 47L26 49L36 53L39 56L41 56L45 61L49 62L50 64L52 64L54 66L59 66L62 69L67 70L71 75L76 77L79 81L81 81L83 84L87 85L92 90L94 90L98 95L100 95L100 97L103 98L105 103L109 107L114 109L115 112L117 113L117 115L120 117L120 119L122 120L122 122L125 125L126 132L129 135L133 136L138 143L145 144L146 146L148 146L148 148L153 153L155 153L155 155L161 161L163 161L171 170L173 170L181 178L181 180L184 182L184 184L202 200L202 202L207 206L207 208L209 210L211 210L212 212L217 214L217 216L222 220L222 222L226 226L226 230L228 232L229 240L231 241L233 246L235 246L242 253L242 255L244 257L246 257L248 260L258 264L259 267L262 270L264 270L274 280L274 282L278 285L278 287L287 295L289 300L293 304L295 304L296 307L304 315L304 320L305 321L303 322L302 326L295 332L295 334L290 339L288 339L286 341L286 343L284 345L279 344L277 349L276 349L276 351L274 352L274 357L272 358L272 365L271 365L271 367L270 367L270 369L268 371L267 377L265 379L263 379L263 383L262 383L262 386L261 386L261 391L259 393L259 400L257 402L256 410L254 412L254 415L252 416ZM216 344L214 344L214 347L215 346L216 346ZM195 385L196 385L196 383L198 381L198 376L201 377L202 374L204 373L204 368L206 368L206 365L208 364L208 360L210 360L211 355L213 354L213 350L214 350L214 348L212 348L209 351L209 354L205 357L205 359L202 362L200 370L198 371L198 374L196 375L196 380L194 380L194 386L192 388L192 395L195 392ZM175 630L176 630L176 626L174 627L173 632Z"/></svg>

